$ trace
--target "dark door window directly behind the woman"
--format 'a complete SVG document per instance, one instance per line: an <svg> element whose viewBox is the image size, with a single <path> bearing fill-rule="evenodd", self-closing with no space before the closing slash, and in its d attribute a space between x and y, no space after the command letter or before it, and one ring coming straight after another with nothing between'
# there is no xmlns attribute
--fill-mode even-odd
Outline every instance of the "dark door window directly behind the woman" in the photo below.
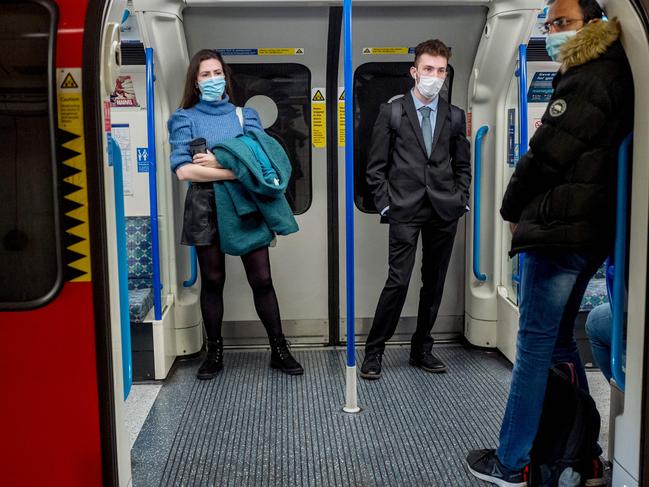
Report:
<svg viewBox="0 0 649 487"><path fill-rule="evenodd" d="M256 109L266 131L288 154L293 174L286 190L293 213L311 206L311 73L294 63L230 64L234 102Z"/></svg>

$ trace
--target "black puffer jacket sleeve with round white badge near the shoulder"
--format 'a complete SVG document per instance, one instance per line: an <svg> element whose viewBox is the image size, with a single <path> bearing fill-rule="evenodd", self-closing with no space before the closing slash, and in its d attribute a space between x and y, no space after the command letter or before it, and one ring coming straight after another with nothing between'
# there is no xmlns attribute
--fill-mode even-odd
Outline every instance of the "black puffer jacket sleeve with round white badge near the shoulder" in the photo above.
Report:
<svg viewBox="0 0 649 487"><path fill-rule="evenodd" d="M500 209L506 221L518 223L532 199L561 181L581 154L596 145L612 112L608 89L599 80L574 77L555 91L507 185Z"/></svg>

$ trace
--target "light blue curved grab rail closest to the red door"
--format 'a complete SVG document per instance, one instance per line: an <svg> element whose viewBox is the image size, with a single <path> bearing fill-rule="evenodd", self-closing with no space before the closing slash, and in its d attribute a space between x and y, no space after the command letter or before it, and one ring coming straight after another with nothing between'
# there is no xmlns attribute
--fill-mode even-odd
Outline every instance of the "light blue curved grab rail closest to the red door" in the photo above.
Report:
<svg viewBox="0 0 649 487"><path fill-rule="evenodd" d="M131 354L131 317L128 303L128 252L126 250L126 216L124 211L124 176L122 172L122 149L117 141L108 136L109 158L113 162L113 189L115 195L115 232L117 241L117 280L119 282L119 321L122 336L122 378L124 400L128 398L133 383Z"/></svg>

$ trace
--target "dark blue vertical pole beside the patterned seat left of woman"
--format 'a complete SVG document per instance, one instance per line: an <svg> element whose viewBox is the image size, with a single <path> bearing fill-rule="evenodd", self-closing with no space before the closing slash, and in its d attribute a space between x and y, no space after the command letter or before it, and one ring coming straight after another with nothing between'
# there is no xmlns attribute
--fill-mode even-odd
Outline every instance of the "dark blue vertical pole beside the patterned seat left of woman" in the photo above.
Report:
<svg viewBox="0 0 649 487"><path fill-rule="evenodd" d="M158 183L155 146L155 103L153 97L153 49L145 49L146 56L146 125L149 158L149 212L151 218L151 258L153 262L153 314L162 319L162 297L160 286L160 242L158 238Z"/></svg>

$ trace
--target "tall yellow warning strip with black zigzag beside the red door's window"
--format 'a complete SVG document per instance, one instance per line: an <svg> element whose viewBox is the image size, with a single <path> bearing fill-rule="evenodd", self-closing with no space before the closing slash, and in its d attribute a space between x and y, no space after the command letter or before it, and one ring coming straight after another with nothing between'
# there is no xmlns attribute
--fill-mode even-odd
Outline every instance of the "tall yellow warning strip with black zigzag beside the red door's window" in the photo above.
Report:
<svg viewBox="0 0 649 487"><path fill-rule="evenodd" d="M81 103L81 69L57 71L58 154L63 193L63 254L67 281L90 281L88 181Z"/></svg>

